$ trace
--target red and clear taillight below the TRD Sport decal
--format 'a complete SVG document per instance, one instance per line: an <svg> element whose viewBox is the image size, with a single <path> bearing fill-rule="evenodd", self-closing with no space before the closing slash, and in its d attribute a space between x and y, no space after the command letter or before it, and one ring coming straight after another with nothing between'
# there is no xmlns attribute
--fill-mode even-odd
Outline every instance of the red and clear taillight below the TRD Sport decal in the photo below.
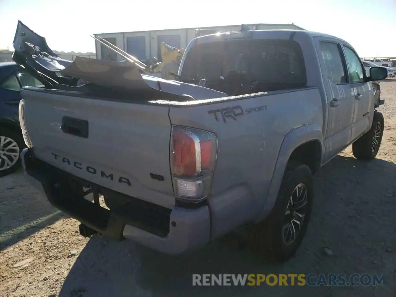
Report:
<svg viewBox="0 0 396 297"><path fill-rule="evenodd" d="M199 202L208 197L216 157L215 134L188 127L172 127L171 171L176 198Z"/></svg>

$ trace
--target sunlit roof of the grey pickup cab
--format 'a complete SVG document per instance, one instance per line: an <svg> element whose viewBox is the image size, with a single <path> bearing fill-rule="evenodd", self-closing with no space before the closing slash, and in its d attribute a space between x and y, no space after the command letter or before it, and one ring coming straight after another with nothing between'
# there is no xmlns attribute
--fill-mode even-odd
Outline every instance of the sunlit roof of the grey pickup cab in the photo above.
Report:
<svg viewBox="0 0 396 297"><path fill-rule="evenodd" d="M294 33L293 33L294 32ZM343 42L348 44L345 40L320 32L314 31L306 31L306 30L288 30L288 29L277 29L277 30L246 30L246 31L232 31L232 32L224 32L224 33L215 33L205 36L197 37L197 43L206 43L213 42L217 38L224 39L227 36L227 39L238 39L243 38L246 34L251 34L251 38L253 39L268 39L268 38L276 38L276 39L289 39L291 34L299 34L305 35L307 37L321 36L326 38L331 38L338 40L339 42Z"/></svg>

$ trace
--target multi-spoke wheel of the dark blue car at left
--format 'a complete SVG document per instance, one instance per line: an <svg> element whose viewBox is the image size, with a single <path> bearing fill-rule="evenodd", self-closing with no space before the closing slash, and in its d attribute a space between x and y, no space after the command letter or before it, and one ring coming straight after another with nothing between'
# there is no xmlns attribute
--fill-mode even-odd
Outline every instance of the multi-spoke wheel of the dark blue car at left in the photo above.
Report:
<svg viewBox="0 0 396 297"><path fill-rule="evenodd" d="M20 153L25 147L21 133L0 128L0 177L9 175L21 167Z"/></svg>

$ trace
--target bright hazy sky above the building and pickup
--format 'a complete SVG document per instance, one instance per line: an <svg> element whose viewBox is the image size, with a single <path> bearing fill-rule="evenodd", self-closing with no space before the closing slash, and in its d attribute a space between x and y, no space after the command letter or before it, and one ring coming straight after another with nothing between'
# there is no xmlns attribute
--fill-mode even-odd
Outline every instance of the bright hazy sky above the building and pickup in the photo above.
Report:
<svg viewBox="0 0 396 297"><path fill-rule="evenodd" d="M396 0L0 0L0 49L13 50L18 20L66 52L95 52L96 33L294 23L396 57Z"/></svg>

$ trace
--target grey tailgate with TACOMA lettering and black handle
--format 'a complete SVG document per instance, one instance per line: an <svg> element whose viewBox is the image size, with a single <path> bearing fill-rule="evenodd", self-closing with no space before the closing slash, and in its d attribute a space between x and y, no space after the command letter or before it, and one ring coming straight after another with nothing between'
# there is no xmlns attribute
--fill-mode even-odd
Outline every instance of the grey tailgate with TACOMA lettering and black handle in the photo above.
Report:
<svg viewBox="0 0 396 297"><path fill-rule="evenodd" d="M24 121L34 155L92 183L167 208L169 108L24 89Z"/></svg>

